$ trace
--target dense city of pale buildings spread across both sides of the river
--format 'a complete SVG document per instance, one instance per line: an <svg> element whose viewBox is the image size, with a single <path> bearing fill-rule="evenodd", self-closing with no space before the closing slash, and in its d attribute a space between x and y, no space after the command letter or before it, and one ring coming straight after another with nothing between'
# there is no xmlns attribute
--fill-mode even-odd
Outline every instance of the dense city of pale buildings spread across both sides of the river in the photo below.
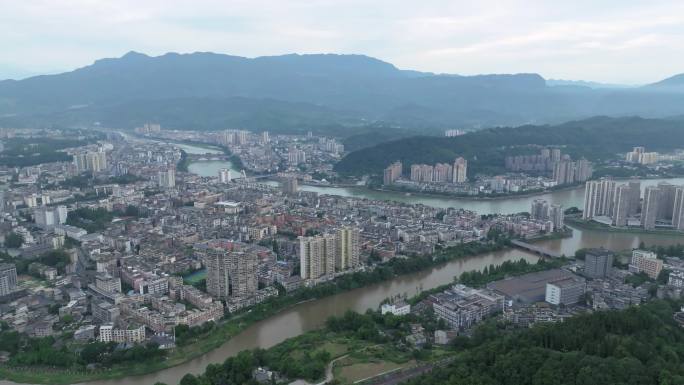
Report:
<svg viewBox="0 0 684 385"><path fill-rule="evenodd" d="M408 170L397 161L381 176L386 186L466 195L584 189L583 207L533 197L524 212L481 214L310 191L305 187L373 178L338 174L343 144L312 133L195 132L147 123L130 131L5 128L0 137L0 375L8 379L71 383L154 372L216 349L296 304L507 249L535 257L464 271L415 295L395 293L365 314L333 316L323 329L178 380L393 384L425 374L415 383L431 384L448 375L436 370L444 368L466 371L466 383L532 383L506 381L516 376L507 365L520 363L495 359L490 365L501 370L462 368L488 349L515 344L544 356L544 365L573 360L569 366L595 379L603 370L623 370L612 357L640 354L634 344L645 337L623 340L627 326L620 325L648 317L654 320L644 333L671 333L672 340L661 341L670 356L660 350L662 364L632 365L620 375L684 379L681 347L673 346L684 340L676 326L684 325L677 303L684 246L570 255L538 246L571 237L566 220L681 236L682 186L663 181L642 195L640 180L594 177L591 162L551 146L506 156L501 166L510 173L502 175L472 177L468 159L458 157ZM606 162L671 168L681 158L635 147ZM623 313L625 319L614 319ZM584 323L599 333L594 350L582 347L594 338L591 330L565 340ZM506 346L501 335L511 339ZM577 353L568 358L569 351ZM507 359L531 359L515 354Z"/></svg>

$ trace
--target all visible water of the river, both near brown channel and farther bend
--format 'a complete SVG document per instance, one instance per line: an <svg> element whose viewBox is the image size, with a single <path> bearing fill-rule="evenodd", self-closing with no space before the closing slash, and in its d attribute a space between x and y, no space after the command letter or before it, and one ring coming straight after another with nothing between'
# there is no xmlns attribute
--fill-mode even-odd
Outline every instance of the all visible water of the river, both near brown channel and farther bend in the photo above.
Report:
<svg viewBox="0 0 684 385"><path fill-rule="evenodd" d="M187 151L187 149L185 150ZM201 161L193 163L200 163L197 167L201 167L203 170L213 171L213 167L218 167L211 166L211 168L209 168L208 166L203 166ZM225 165L229 162L222 163ZM208 171L206 172L208 173ZM644 181L642 187L656 184L659 181L660 180ZM669 182L682 184L684 183L684 179L674 179L669 180ZM374 192L363 189L335 187L303 186L302 189L316 191L321 194L400 200L437 207L463 207L471 210L478 210L481 213L528 211L531 200L537 197L547 199L552 203L560 203L565 207L581 207L584 198L582 189L556 191L537 197L517 197L505 200L486 201L405 196L400 193ZM642 241L646 244L668 245L684 242L684 237L657 234L607 233L575 229L570 238L546 240L540 242L539 245L566 255L573 255L578 248L603 246L613 250L624 250L634 248ZM169 385L175 385L178 384L186 373L201 373L208 364L223 362L227 357L235 355L239 351L256 347L268 348L287 338L318 328L325 322L326 318L331 315L340 315L350 309L365 311L368 308L377 308L383 299L390 296L404 293L413 295L420 289L430 289L448 283L452 281L455 276L460 275L464 271L480 270L490 264L498 265L507 260L517 260L520 258L524 258L530 262L534 262L538 259L536 255L510 249L452 261L426 271L404 275L387 282L296 305L280 314L250 326L242 333L228 340L220 348L176 367L143 376L128 377L118 380L92 381L87 384L150 385L155 382L164 382ZM13 383L0 381L0 385L10 384Z"/></svg>

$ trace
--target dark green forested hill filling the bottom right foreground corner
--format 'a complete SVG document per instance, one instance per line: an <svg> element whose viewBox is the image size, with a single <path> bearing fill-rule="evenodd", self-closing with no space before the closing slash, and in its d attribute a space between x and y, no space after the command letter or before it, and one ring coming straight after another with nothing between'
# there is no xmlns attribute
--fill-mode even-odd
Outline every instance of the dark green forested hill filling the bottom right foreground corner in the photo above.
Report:
<svg viewBox="0 0 684 385"><path fill-rule="evenodd" d="M684 384L684 328L673 303L652 302L457 343L458 358L411 385Z"/></svg>

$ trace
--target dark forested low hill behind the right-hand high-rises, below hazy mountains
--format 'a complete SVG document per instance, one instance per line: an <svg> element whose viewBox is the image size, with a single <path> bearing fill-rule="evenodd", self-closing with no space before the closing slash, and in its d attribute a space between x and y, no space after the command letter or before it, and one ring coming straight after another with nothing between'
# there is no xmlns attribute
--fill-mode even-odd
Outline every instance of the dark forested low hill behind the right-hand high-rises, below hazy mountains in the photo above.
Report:
<svg viewBox="0 0 684 385"><path fill-rule="evenodd" d="M395 160L413 163L468 160L469 174L503 171L506 155L521 145L564 146L564 153L589 159L626 152L634 146L648 151L684 146L684 123L675 120L596 117L556 126L498 127L454 138L411 137L351 152L336 165L346 175L380 173Z"/></svg>

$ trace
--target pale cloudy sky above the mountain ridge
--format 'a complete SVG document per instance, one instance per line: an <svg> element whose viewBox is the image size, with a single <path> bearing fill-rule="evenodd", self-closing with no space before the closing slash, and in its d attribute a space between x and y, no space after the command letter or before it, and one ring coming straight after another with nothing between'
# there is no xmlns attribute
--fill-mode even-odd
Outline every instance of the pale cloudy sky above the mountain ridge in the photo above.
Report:
<svg viewBox="0 0 684 385"><path fill-rule="evenodd" d="M436 73L644 84L684 72L684 2L0 0L0 79L132 50L354 53Z"/></svg>

